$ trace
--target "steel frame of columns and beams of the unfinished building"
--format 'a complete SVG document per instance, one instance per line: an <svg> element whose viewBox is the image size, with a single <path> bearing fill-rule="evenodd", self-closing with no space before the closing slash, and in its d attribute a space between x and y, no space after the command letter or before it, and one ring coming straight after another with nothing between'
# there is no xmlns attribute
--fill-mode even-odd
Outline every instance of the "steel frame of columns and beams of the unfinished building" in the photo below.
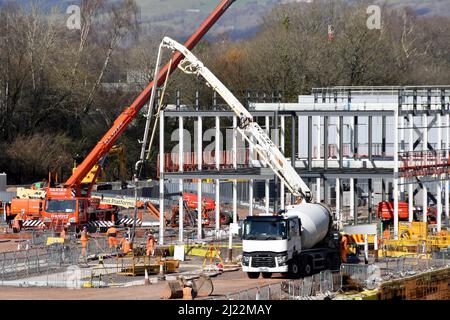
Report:
<svg viewBox="0 0 450 320"><path fill-rule="evenodd" d="M198 97L198 94L196 95ZM270 97L270 95L268 95ZM368 97L368 102L362 102ZM387 98L386 98L387 97ZM394 237L398 237L398 202L407 199L410 210L410 221L412 211L415 207L415 198L418 190L426 191L422 197L422 206L428 208L429 199L434 195L441 201L437 201L437 229L442 228L441 215L446 213L445 224L448 226L449 212L449 140L450 140L450 86L449 87L335 87L325 89L314 89L311 96L299 103L282 103L277 96L277 101L270 103L251 104L249 111L260 123L264 124L266 130L275 129L276 141L282 152L287 151L287 142L290 143L289 150L292 164L301 177L305 178L310 187L315 184L315 198L329 204L329 185L334 184L336 190L336 204L334 211L340 222L342 221L343 208L343 185L348 181L350 187L350 219L358 224L358 182L368 182L368 211L369 222L374 216L375 204L373 203L375 193L375 182L381 182L382 200L394 200ZM385 99L386 98L386 99ZM160 114L160 154L164 154L165 125L169 119L178 119L178 128L183 129L190 119L205 123L205 119L215 119L214 128L216 133L224 129L224 119L233 122L233 154L237 154L237 119L234 113L219 110L217 99L212 106L201 108L199 99L196 106L182 107L180 95L177 94L177 104ZM367 128L362 131L363 121ZM428 121L432 118L432 121ZM444 119L442 119L444 118ZM374 121L381 120L381 132L374 130ZM418 125L422 119L423 124ZM393 121L393 125L388 124ZM442 120L444 120L442 122ZM229 120L228 120L229 121ZM335 123L331 123L334 121ZM349 122L349 123L348 123ZM436 126L436 122L438 125ZM306 124L306 125L305 125ZM335 126L335 134L331 132ZM347 126L350 143L350 154L344 153L344 127ZM307 127L306 137L304 135ZM202 137L203 127L197 126L198 137ZM436 148L430 143L428 133L437 130L438 143ZM181 132L182 130L180 130ZM408 132L413 132L410 134ZM375 133L381 135L381 141L377 144ZM443 134L444 133L444 134ZM367 152L363 154L363 143L361 136L367 136ZM445 142L443 137L445 136ZM414 139L414 137L416 139ZM288 139L290 138L290 141ZM393 139L392 143L388 143ZM337 149L336 154L330 152L330 145ZM201 141L198 141L201 145ZM216 139L216 148L220 141ZM316 149L313 146L316 146ZM424 147L425 145L425 147ZM300 150L307 146L306 157L302 156ZM379 149L375 152L375 147ZM388 147L391 151L388 151ZM418 148L421 147L420 150ZM323 152L318 150L323 149ZM315 151L315 152L314 152ZM183 153L183 136L179 136L179 152ZM198 159L202 159L201 150L197 149ZM254 153L250 150L250 158ZM161 185L161 206L163 208L164 181L165 179L179 179L180 191L183 190L183 181L194 179L214 179L218 186L224 179L246 179L249 181L250 212L253 214L253 184L255 180L265 181L266 185L266 211L269 212L269 182L274 179L273 173L265 168L249 167L238 168L236 157L233 157L233 167L228 170L221 169L220 156L215 158L215 170L201 169L198 171L184 172L180 167L179 172L165 172L164 159L159 159L159 174ZM223 160L223 159L222 159ZM252 162L252 163L253 163ZM334 183L333 183L334 180ZM392 183L392 192L387 190L387 185ZM236 183L233 184L234 189ZM442 189L445 186L444 197ZM322 188L323 187L323 188ZM323 190L323 192L322 192ZM280 209L285 204L285 186L279 186ZM389 194L390 193L390 194ZM235 194L235 192L234 192ZM201 196L201 188L199 188ZM435 197L435 198L436 198ZM236 198L234 198L236 200ZM216 200L219 203L220 193L216 192ZM201 205L199 205L201 209ZM444 210L445 209L445 210ZM161 210L163 211L163 209ZM237 204L233 203L234 221L237 217ZM181 213L180 213L181 214ZM216 213L217 214L217 213ZM426 215L424 215L426 219ZM218 221L218 219L216 220ZM347 221L348 222L348 221ZM216 223L216 230L220 225ZM182 227L179 233L180 241L183 239Z"/></svg>

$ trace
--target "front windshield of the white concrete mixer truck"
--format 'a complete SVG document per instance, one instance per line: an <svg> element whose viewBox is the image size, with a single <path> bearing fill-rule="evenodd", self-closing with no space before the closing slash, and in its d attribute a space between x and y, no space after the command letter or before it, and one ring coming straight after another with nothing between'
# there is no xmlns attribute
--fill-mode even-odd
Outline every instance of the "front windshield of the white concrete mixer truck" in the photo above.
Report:
<svg viewBox="0 0 450 320"><path fill-rule="evenodd" d="M283 240L286 237L286 221L245 221L244 240Z"/></svg>

